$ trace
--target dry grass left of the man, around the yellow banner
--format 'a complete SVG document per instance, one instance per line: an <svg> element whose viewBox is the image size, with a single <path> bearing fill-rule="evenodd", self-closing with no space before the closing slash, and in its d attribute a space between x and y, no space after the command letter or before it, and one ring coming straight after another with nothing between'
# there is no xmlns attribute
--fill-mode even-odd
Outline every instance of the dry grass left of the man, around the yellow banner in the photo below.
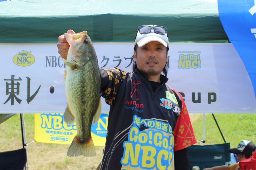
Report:
<svg viewBox="0 0 256 170"><path fill-rule="evenodd" d="M34 114L24 114L27 143L34 141ZM0 124L0 152L22 148L20 114ZM101 162L103 146L95 146L96 157L67 157L69 145L31 143L27 147L30 170L93 170Z"/></svg>

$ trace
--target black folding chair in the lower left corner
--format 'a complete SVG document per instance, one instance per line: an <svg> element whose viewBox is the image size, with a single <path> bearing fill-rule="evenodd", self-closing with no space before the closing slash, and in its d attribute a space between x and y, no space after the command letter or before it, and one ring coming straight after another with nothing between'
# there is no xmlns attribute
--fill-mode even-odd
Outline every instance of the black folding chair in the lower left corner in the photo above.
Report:
<svg viewBox="0 0 256 170"><path fill-rule="evenodd" d="M0 152L1 170L22 170L27 162L27 151L25 148Z"/></svg>

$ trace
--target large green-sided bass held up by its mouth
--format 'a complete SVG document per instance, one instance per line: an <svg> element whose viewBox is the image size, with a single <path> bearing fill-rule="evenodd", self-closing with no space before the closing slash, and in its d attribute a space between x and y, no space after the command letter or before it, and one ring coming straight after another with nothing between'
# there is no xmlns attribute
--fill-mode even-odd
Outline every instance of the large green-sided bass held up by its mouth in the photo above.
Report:
<svg viewBox="0 0 256 170"><path fill-rule="evenodd" d="M70 47L65 64L67 108L64 122L73 125L76 122L77 134L68 148L67 155L77 157L95 156L91 136L92 122L100 119L100 73L95 49L86 31L76 34L64 34Z"/></svg>

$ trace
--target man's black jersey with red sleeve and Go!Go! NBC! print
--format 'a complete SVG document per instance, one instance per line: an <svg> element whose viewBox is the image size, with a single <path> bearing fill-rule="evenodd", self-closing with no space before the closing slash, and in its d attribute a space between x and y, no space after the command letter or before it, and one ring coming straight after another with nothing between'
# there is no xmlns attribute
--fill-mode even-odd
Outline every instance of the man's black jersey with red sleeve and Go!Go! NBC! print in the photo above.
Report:
<svg viewBox="0 0 256 170"><path fill-rule="evenodd" d="M100 69L101 96L110 105L101 170L173 170L173 151L196 143L180 93L166 85L153 92L140 70Z"/></svg>

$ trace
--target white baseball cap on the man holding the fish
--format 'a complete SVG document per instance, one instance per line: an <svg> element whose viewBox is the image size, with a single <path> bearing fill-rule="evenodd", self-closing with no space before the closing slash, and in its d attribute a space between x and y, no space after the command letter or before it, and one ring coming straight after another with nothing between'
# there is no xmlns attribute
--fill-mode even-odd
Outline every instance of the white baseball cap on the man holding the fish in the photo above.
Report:
<svg viewBox="0 0 256 170"><path fill-rule="evenodd" d="M150 29L150 31L147 31L146 33L140 33L139 29L147 27L147 29ZM151 28L150 28L151 27ZM169 47L169 40L167 37L167 29L164 30L165 34L160 34L157 32L156 28L165 28L163 26L156 26L156 25L148 25L148 26L139 26L138 32L136 35L136 38L134 40L134 46L138 44L139 47L147 44L150 41L158 41L164 45L164 47ZM155 32L156 31L156 32Z"/></svg>

